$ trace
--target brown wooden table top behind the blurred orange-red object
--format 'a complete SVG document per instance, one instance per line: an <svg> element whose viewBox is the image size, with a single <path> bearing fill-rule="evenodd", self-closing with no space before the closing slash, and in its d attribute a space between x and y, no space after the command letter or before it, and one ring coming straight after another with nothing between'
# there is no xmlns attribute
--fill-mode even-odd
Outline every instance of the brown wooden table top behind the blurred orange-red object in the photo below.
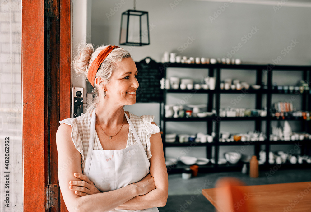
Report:
<svg viewBox="0 0 311 212"><path fill-rule="evenodd" d="M249 197L252 200L252 207L258 212L311 212L311 182L240 187L248 191L245 199L247 200ZM226 203L221 202L221 199L216 200L218 189L220 188L202 189L202 194L218 211L223 211L221 205ZM241 200L240 204L244 202ZM238 208L237 205L239 205L238 202L234 207L235 209Z"/></svg>

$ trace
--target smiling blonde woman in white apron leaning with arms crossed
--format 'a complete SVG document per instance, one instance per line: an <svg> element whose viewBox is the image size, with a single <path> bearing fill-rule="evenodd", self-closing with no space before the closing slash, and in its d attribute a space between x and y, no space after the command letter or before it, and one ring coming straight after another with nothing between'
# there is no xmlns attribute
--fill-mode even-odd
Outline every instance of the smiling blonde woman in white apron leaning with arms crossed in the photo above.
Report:
<svg viewBox="0 0 311 212"><path fill-rule="evenodd" d="M79 48L73 68L95 98L85 114L60 121L58 175L69 211L158 211L168 193L159 127L124 105L136 102L135 62L117 46Z"/></svg>

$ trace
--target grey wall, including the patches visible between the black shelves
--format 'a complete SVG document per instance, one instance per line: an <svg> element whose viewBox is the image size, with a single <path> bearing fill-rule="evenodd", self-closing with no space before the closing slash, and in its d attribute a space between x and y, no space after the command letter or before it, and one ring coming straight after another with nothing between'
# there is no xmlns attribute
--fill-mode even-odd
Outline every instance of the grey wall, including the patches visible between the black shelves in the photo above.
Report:
<svg viewBox="0 0 311 212"><path fill-rule="evenodd" d="M121 13L133 8L132 1L124 1L124 4L120 2L120 0L92 1L91 42L94 45L119 44ZM187 57L228 57L227 52L233 51L233 47L240 43L240 48L232 58L240 58L245 63L273 63L272 60L276 61L278 56L281 58L277 61L278 64L309 65L311 63L311 22L309 21L311 20L311 7L283 6L275 11L272 5L240 4L228 1L225 5L227 7L223 7L224 4L225 2L190 0L138 0L136 9L149 12L151 44L144 47L120 47L128 49L135 61L150 56L160 62L165 51L176 52ZM220 11L220 8L224 11ZM216 19L211 20L210 17L217 12L218 17L215 16ZM257 30L253 30L254 28ZM248 38L245 39L244 36ZM285 54L283 49L290 46L293 41L296 41L296 44L292 44L294 47ZM191 69L170 68L168 71L169 76L192 77L197 80L204 76L204 71ZM255 72L253 70L236 72L224 70L221 78L239 78L252 84L255 82ZM276 73L273 80L279 85L295 85L301 78L300 73L297 75L297 73L282 71ZM182 97L182 94L169 94L169 104L178 104ZM222 94L221 107L225 108L230 105L230 101L235 97L234 94ZM272 102L281 101L284 98L288 97L273 96ZM188 100L188 103L206 104L206 101L207 94L196 94ZM298 99L294 103L297 108L300 107L300 102ZM254 104L255 96L249 94L235 107L254 108ZM265 104L266 101L263 99L263 105ZM153 114L156 116L155 122L159 124L159 104L136 103L126 106L125 109L137 115ZM293 123L293 127L295 125L296 123ZM176 132L176 129L196 134L200 131L204 132L206 125L200 122L192 123L192 125L168 123L168 132ZM224 122L221 123L220 130L253 131L254 124L241 122L233 125L232 122ZM238 147L221 147L220 155L222 156L222 152L235 150L234 148ZM286 148L291 147L284 148L286 151ZM184 148L169 148L166 156L178 157L183 150ZM252 154L252 152L252 146L245 150L246 154ZM187 154L204 157L205 149L194 147Z"/></svg>

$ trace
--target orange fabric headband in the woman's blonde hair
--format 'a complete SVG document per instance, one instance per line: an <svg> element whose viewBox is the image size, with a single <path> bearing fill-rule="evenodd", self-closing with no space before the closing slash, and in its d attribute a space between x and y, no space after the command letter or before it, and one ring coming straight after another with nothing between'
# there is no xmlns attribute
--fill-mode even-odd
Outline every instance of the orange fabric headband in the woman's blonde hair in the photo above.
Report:
<svg viewBox="0 0 311 212"><path fill-rule="evenodd" d="M107 46L98 54L98 56L95 58L95 60L93 60L93 62L91 63L91 66L90 66L89 71L87 73L87 79L93 87L94 87L95 75L97 73L98 68L100 67L100 64L104 61L104 59L108 56L108 54L115 48L120 48L120 47L118 47L118 46Z"/></svg>

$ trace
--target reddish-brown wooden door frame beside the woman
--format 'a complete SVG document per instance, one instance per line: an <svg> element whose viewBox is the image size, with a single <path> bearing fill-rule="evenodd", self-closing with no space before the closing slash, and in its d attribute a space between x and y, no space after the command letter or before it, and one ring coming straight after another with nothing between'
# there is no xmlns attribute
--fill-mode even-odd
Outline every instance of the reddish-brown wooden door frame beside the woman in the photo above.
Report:
<svg viewBox="0 0 311 212"><path fill-rule="evenodd" d="M47 73L46 62L44 1L22 1L23 203L24 211L27 212L45 211L45 187L58 184L55 133L58 121L70 118L71 114L71 1L47 2L56 5L57 11L51 7L52 16L54 14L55 21L59 21L56 26L52 21L50 28L54 31L50 34L49 43L55 48L49 49L49 57L53 62L58 61L51 64L50 74ZM47 76L51 93L49 99ZM51 211L67 211L60 199L60 207L52 208Z"/></svg>

